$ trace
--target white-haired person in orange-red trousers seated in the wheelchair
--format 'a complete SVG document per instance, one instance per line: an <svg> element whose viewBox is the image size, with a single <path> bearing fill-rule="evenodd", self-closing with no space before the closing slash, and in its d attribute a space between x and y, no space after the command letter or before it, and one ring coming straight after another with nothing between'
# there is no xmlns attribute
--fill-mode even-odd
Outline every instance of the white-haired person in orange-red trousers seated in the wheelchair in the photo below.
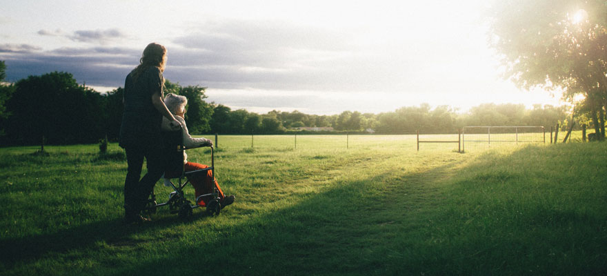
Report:
<svg viewBox="0 0 607 276"><path fill-rule="evenodd" d="M183 119L183 116L186 114L186 105L188 104L188 99L181 95L175 95L173 93L169 93L164 98L164 104L168 108L173 115L175 115L175 119L181 123L181 130L183 131L183 146L186 148L198 148L204 146L212 146L213 143L210 139L206 138L195 138L190 135L188 132L188 127L186 126L186 121ZM163 119L161 130L163 131L174 131L175 128L171 128L170 121L168 119ZM201 170L203 168L208 168L208 166L204 164L198 164L194 162L188 161L188 155L186 151L183 151L183 167L186 172L191 172L193 170ZM198 199L199 195L206 195L212 193L213 185L217 188L217 192L219 193L219 198L221 199L221 207L228 206L232 204L235 200L234 195L228 195L227 197L223 194L223 191L217 184L217 181L213 179L212 172L207 170L206 173L193 175L190 177L190 183L194 186L195 190L195 199ZM165 183L168 179L165 179ZM200 206L206 206L207 202L204 197L201 198L197 202Z"/></svg>

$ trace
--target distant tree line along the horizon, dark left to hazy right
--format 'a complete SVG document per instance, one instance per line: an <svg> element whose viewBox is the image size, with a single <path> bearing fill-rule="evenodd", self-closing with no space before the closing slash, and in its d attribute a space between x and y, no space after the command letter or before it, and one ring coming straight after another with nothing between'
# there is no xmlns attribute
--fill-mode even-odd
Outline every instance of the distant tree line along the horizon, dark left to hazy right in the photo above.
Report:
<svg viewBox="0 0 607 276"><path fill-rule="evenodd" d="M1 77L5 66L0 61ZM335 132L378 134L454 133L463 126L545 126L567 120L564 106L485 103L466 113L428 103L379 114L344 111L308 115L272 110L266 114L231 110L205 101L206 88L166 81L165 92L188 98L186 123L194 134L284 134L296 128L332 127ZM117 140L123 112L123 88L99 93L82 86L68 72L30 76L0 86L0 139L3 145L87 144ZM316 132L315 132L316 133Z"/></svg>

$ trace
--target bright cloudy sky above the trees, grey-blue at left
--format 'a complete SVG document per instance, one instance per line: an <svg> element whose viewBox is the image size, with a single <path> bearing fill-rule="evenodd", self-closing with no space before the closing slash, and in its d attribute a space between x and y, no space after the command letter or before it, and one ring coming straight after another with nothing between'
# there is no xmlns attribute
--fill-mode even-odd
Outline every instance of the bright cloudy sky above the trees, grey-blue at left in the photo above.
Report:
<svg viewBox="0 0 607 276"><path fill-rule="evenodd" d="M561 105L559 93L501 77L487 1L0 0L8 81L70 72L99 92L123 86L150 42L166 79L207 101L263 114L392 112L481 103Z"/></svg>

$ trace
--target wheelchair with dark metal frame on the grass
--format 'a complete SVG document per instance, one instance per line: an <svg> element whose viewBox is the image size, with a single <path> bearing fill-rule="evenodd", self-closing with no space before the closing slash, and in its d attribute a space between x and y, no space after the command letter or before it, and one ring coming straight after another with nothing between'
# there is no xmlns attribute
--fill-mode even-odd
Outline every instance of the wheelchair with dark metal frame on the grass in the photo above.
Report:
<svg viewBox="0 0 607 276"><path fill-rule="evenodd" d="M158 203L157 197L152 188L152 193L148 198L146 208L143 209L144 213L148 215L155 214L157 209L162 206L168 206L170 213L178 214L181 219L187 219L192 216L192 210L195 208L202 207L198 203L204 199L206 201L206 214L213 216L219 215L221 212L221 199L219 198L219 191L217 187L213 185L211 193L199 195L192 204L192 201L186 198L183 193L183 188L190 183L190 177L194 177L199 174L208 174L211 172L212 179L215 181L215 149L211 146L211 166L203 168L201 170L193 170L186 172L183 164L183 151L190 149L183 145L183 131L181 128L175 131L163 131L163 155L166 157L166 168L164 177L170 179L170 186L173 191L168 195L166 202Z"/></svg>

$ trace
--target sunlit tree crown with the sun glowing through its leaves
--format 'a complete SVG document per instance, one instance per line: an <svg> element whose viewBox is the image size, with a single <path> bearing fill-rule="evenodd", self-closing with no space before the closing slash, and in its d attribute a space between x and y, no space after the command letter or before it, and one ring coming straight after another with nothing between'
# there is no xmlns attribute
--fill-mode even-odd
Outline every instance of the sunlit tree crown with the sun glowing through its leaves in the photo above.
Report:
<svg viewBox="0 0 607 276"><path fill-rule="evenodd" d="M492 47L505 76L521 88L562 88L586 98L595 131L605 135L607 5L604 0L496 1L490 10Z"/></svg>

